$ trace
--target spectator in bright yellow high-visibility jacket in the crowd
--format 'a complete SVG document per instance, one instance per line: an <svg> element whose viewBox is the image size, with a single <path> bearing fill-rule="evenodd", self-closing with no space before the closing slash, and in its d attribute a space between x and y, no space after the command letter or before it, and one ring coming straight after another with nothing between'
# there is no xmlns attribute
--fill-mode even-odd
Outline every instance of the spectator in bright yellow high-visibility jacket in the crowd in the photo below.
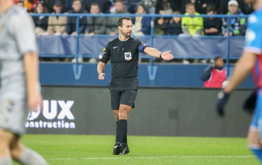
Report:
<svg viewBox="0 0 262 165"><path fill-rule="evenodd" d="M195 5L186 4L185 15L200 15L195 11ZM185 35L204 35L204 20L202 17L182 17L181 26Z"/></svg>

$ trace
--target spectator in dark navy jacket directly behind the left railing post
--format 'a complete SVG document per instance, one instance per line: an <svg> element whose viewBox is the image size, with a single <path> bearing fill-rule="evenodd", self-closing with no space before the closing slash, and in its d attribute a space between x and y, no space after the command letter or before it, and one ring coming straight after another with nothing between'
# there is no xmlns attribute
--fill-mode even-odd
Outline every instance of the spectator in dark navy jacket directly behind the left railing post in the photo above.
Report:
<svg viewBox="0 0 262 165"><path fill-rule="evenodd" d="M82 2L80 0L73 0L73 10L69 13L87 13L86 10L82 9ZM87 25L86 17L80 16L79 18L79 34L84 33ZM63 35L76 35L76 17L68 17L66 32Z"/></svg>

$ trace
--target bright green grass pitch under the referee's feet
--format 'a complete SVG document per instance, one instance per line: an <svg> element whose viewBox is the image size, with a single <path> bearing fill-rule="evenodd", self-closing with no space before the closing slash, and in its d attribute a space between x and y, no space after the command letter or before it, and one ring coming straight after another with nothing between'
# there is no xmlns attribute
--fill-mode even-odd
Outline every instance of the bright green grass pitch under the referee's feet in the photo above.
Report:
<svg viewBox="0 0 262 165"><path fill-rule="evenodd" d="M128 136L130 153L112 155L115 136L25 135L49 164L260 164L246 138ZM16 163L15 163L16 164Z"/></svg>

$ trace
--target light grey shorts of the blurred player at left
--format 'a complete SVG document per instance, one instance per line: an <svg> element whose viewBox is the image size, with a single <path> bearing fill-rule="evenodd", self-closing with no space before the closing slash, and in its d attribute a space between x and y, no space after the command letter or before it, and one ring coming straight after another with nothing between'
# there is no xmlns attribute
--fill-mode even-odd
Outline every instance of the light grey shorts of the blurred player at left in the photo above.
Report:
<svg viewBox="0 0 262 165"><path fill-rule="evenodd" d="M12 100L2 98L0 100L0 128L22 136L26 132L25 123L29 108L26 99Z"/></svg>

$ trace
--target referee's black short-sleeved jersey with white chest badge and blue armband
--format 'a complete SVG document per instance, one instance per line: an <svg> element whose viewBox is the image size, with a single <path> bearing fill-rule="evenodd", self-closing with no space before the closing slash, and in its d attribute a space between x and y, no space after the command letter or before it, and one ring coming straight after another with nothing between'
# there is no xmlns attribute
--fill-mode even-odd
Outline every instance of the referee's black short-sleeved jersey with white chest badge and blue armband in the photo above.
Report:
<svg viewBox="0 0 262 165"><path fill-rule="evenodd" d="M108 42L99 55L99 60L107 63L111 60L111 77L131 78L137 76L139 52L144 53L145 47L149 47L142 41L129 37L126 41L115 38Z"/></svg>

